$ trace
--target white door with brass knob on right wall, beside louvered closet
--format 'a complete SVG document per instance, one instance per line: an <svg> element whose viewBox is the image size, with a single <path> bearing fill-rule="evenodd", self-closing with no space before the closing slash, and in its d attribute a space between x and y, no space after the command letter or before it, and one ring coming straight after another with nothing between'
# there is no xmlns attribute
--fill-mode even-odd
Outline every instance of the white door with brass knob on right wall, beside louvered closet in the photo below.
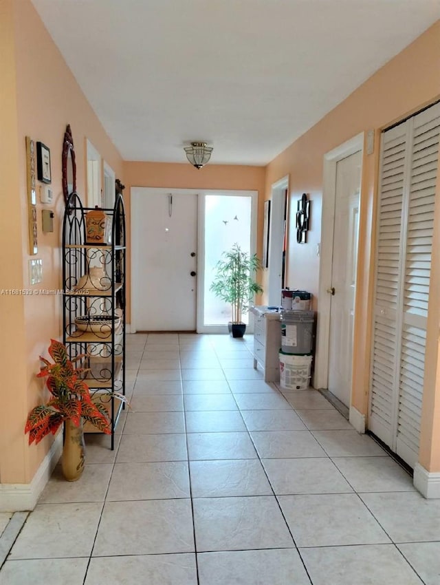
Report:
<svg viewBox="0 0 440 585"><path fill-rule="evenodd" d="M331 270L329 385L332 394L350 406L353 319L362 153L336 164L335 226Z"/></svg>

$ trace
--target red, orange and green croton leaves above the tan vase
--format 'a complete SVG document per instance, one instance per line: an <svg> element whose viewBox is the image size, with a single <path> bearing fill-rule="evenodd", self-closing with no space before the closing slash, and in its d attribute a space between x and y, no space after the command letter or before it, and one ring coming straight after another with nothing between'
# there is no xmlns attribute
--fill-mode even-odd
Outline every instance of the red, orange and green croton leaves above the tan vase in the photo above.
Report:
<svg viewBox="0 0 440 585"><path fill-rule="evenodd" d="M47 434L55 434L61 424L70 418L78 427L81 418L89 421L101 432L110 434L111 423L104 405L91 400L89 387L83 376L85 368L76 368L74 363L83 359L79 355L69 360L67 348L60 341L51 339L49 348L50 357L54 363L40 356L45 367L41 369L38 378L47 377L47 389L51 394L46 404L36 406L31 410L26 421L25 433L29 433L29 444L39 443ZM124 396L113 393L113 396L124 400Z"/></svg>

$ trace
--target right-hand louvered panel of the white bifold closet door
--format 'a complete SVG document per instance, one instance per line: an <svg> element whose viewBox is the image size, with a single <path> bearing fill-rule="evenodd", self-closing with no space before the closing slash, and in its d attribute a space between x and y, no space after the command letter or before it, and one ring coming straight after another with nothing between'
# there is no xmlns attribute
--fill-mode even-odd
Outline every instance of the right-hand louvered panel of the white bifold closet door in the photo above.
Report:
<svg viewBox="0 0 440 585"><path fill-rule="evenodd" d="M440 104L411 121L396 452L414 467L419 454Z"/></svg>

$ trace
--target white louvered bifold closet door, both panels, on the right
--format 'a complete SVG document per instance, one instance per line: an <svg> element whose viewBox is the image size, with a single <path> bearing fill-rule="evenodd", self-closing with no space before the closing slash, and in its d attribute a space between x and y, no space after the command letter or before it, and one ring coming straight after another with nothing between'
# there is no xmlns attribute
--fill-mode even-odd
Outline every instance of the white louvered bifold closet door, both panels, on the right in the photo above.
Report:
<svg viewBox="0 0 440 585"><path fill-rule="evenodd" d="M440 104L384 131L377 209L369 429L419 454Z"/></svg>

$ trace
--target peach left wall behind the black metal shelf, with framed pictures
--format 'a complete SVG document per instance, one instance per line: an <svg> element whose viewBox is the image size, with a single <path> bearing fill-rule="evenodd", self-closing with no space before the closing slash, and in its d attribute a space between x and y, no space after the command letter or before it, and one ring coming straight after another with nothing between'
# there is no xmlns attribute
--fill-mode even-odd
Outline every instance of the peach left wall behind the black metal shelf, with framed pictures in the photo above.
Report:
<svg viewBox="0 0 440 585"><path fill-rule="evenodd" d="M8 92L11 107L8 116L15 121L14 127L10 123L8 140L3 140L2 136L2 142L8 144L16 160L11 161L13 164L8 173L2 173L8 180L9 175L12 175L14 188L11 179L11 187L7 190L8 200L3 201L3 210L7 213L1 214L2 222L5 223L4 226L2 224L1 237L7 246L4 250L8 250L10 255L7 264L2 262L2 277L3 266L9 269L9 273L6 275L5 285L2 279L0 288L30 288L25 162L25 136L30 136L35 141L41 140L50 148L51 187L55 197L52 205L40 204L40 184L37 182L39 250L35 257L43 259L43 282L33 288L57 290L62 286L61 229L64 201L61 188L61 151L67 123L72 127L76 150L77 189L81 195L86 193L84 147L86 136L120 178L123 178L122 158L96 118L30 0L19 2L2 0L2 6L5 3L9 5L10 14L8 38L14 43L14 53L9 52L11 72L8 77ZM3 109L0 116L6 117ZM12 154L10 158L12 159ZM3 164L3 151L1 161ZM54 233L43 233L42 209L54 209ZM6 217L8 222L4 221ZM3 246L1 248L4 251ZM12 260L13 268L10 268ZM6 355L3 352L1 354L1 370L8 372L10 377L7 396L10 409L8 412L2 409L0 414L4 417L0 425L0 436L2 447L6 447L1 449L0 454L2 483L29 483L52 442L51 438L46 438L37 447L34 445L28 447L28 438L23 434L23 427L28 411L40 401L42 395L43 384L35 377L39 371L39 355L47 355L51 337L61 336L61 301L60 295L2 299L2 308L4 305L8 315L8 326L5 328L8 331L5 337L8 352ZM17 326L13 326L12 323L17 323ZM13 355L15 357L12 357ZM12 365L17 363L20 367L10 372ZM24 368L21 364L24 364Z"/></svg>

